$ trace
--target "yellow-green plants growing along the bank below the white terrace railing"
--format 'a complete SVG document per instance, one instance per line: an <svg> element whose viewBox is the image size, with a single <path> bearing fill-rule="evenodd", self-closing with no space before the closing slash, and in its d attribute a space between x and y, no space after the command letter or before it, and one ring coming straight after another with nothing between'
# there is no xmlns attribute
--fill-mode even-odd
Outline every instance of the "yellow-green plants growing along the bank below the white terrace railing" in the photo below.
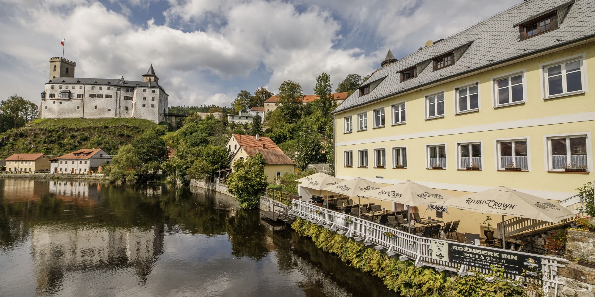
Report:
<svg viewBox="0 0 595 297"><path fill-rule="evenodd" d="M526 297L543 296L535 286L522 287L507 279L503 270L486 276L456 276L450 279L444 272L430 267L415 267L411 261L390 258L361 242L333 233L315 223L297 219L292 225L300 236L312 238L318 248L336 254L342 261L359 270L380 277L389 289L406 297ZM488 282L486 277L494 277Z"/></svg>

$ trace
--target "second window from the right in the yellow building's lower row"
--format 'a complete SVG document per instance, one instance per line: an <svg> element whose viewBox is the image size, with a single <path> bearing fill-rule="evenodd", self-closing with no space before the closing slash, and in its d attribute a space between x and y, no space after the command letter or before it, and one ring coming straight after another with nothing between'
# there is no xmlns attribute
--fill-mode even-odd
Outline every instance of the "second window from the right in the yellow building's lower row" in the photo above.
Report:
<svg viewBox="0 0 595 297"><path fill-rule="evenodd" d="M529 170L527 139L497 141L498 170Z"/></svg>

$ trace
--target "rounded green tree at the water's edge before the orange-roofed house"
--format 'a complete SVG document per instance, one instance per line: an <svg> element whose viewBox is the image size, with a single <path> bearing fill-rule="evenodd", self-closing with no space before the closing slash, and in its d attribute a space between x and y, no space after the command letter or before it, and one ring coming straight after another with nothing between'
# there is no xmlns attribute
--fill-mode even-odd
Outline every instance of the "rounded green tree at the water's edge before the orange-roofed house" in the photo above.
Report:
<svg viewBox="0 0 595 297"><path fill-rule="evenodd" d="M268 185L265 164L261 153L233 163L233 172L227 179L227 191L236 196L240 207L250 209L258 205L258 194Z"/></svg>

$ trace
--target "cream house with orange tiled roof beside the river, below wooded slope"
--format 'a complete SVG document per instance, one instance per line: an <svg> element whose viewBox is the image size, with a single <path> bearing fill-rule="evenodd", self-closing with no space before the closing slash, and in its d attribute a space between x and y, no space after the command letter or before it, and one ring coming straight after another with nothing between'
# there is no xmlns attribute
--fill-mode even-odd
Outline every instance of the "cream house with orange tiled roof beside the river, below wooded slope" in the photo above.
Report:
<svg viewBox="0 0 595 297"><path fill-rule="evenodd" d="M233 162L237 159L246 159L248 156L254 156L256 153L261 153L267 165L264 166L264 173L268 176L268 182L274 182L275 177L280 177L284 172L292 172L294 164L289 157L277 144L268 137L261 137L259 135L241 135L231 134L227 141L227 149L233 153L229 168L233 170Z"/></svg>

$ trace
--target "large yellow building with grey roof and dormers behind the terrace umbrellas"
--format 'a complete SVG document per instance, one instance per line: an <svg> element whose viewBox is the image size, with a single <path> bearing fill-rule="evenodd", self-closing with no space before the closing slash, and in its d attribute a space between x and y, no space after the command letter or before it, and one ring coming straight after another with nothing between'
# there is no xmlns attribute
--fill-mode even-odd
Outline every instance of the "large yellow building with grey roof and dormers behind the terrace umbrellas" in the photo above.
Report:
<svg viewBox="0 0 595 297"><path fill-rule="evenodd" d="M387 58L333 112L336 176L411 180L455 196L500 185L553 201L576 195L595 179L594 17L593 1L525 1ZM460 220L459 232L480 233L486 219L418 211Z"/></svg>

